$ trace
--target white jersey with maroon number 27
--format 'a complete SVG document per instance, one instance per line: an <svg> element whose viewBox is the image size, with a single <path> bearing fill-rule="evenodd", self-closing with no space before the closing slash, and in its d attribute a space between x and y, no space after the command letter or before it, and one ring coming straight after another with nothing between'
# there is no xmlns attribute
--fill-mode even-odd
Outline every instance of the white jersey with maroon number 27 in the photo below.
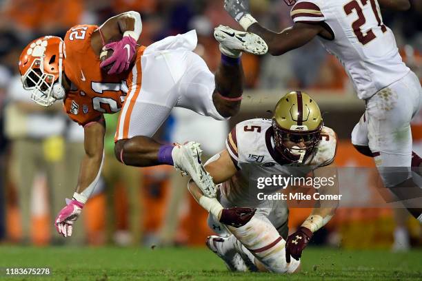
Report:
<svg viewBox="0 0 422 281"><path fill-rule="evenodd" d="M299 0L290 16L295 23L321 23L332 31L334 40L319 40L343 64L361 99L410 71L383 24L377 0Z"/></svg>

